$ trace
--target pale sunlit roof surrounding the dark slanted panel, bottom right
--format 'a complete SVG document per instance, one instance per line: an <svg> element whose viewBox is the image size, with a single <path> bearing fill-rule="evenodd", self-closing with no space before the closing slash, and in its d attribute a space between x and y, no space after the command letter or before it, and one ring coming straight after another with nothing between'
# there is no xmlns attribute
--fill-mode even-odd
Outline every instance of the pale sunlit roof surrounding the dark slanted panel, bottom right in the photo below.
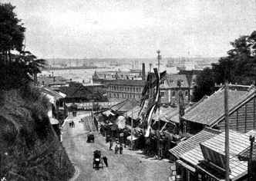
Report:
<svg viewBox="0 0 256 181"><path fill-rule="evenodd" d="M238 160L238 153L245 150L249 143L248 135L244 133L238 133L236 131L230 130L230 179L237 179L240 176L244 176L247 173L248 163ZM201 143L207 148L214 150L217 153L224 154L225 145L225 133L220 133L215 137ZM196 146L193 150L188 151L180 156L182 160L186 160L193 166L197 166L200 160L204 160L203 153L200 146Z"/></svg>

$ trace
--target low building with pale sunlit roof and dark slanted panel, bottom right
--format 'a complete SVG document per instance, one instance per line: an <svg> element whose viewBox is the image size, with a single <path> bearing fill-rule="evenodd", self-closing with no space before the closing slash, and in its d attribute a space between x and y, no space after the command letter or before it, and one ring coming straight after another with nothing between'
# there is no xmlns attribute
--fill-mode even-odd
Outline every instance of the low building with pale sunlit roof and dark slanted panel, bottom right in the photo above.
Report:
<svg viewBox="0 0 256 181"><path fill-rule="evenodd" d="M190 138L191 139L191 138ZM177 160L177 174L184 181L221 181L225 177L224 156L225 133L219 133L194 149L180 155ZM245 133L230 130L230 180L245 181L248 163L238 159L239 153L250 145Z"/></svg>

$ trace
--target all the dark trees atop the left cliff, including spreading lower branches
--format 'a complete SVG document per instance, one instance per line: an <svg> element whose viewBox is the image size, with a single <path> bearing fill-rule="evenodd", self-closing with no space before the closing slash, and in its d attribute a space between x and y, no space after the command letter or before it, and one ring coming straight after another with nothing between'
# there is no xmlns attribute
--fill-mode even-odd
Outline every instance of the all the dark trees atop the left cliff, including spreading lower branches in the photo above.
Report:
<svg viewBox="0 0 256 181"><path fill-rule="evenodd" d="M45 66L29 51L22 51L25 28L13 12L15 6L0 3L0 89L26 86L36 81L36 74ZM12 51L18 51L13 54ZM33 78L34 77L34 78Z"/></svg>

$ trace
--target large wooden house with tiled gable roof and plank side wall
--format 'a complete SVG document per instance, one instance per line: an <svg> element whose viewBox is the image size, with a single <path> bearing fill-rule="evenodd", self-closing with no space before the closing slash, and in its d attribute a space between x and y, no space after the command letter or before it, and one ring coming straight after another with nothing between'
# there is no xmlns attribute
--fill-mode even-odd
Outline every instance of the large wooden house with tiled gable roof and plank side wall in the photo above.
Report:
<svg viewBox="0 0 256 181"><path fill-rule="evenodd" d="M255 87L246 91L228 90L229 124L231 130L245 133L256 128ZM188 133L198 133L204 127L224 130L224 88L204 97L196 106L185 111L181 118Z"/></svg>

